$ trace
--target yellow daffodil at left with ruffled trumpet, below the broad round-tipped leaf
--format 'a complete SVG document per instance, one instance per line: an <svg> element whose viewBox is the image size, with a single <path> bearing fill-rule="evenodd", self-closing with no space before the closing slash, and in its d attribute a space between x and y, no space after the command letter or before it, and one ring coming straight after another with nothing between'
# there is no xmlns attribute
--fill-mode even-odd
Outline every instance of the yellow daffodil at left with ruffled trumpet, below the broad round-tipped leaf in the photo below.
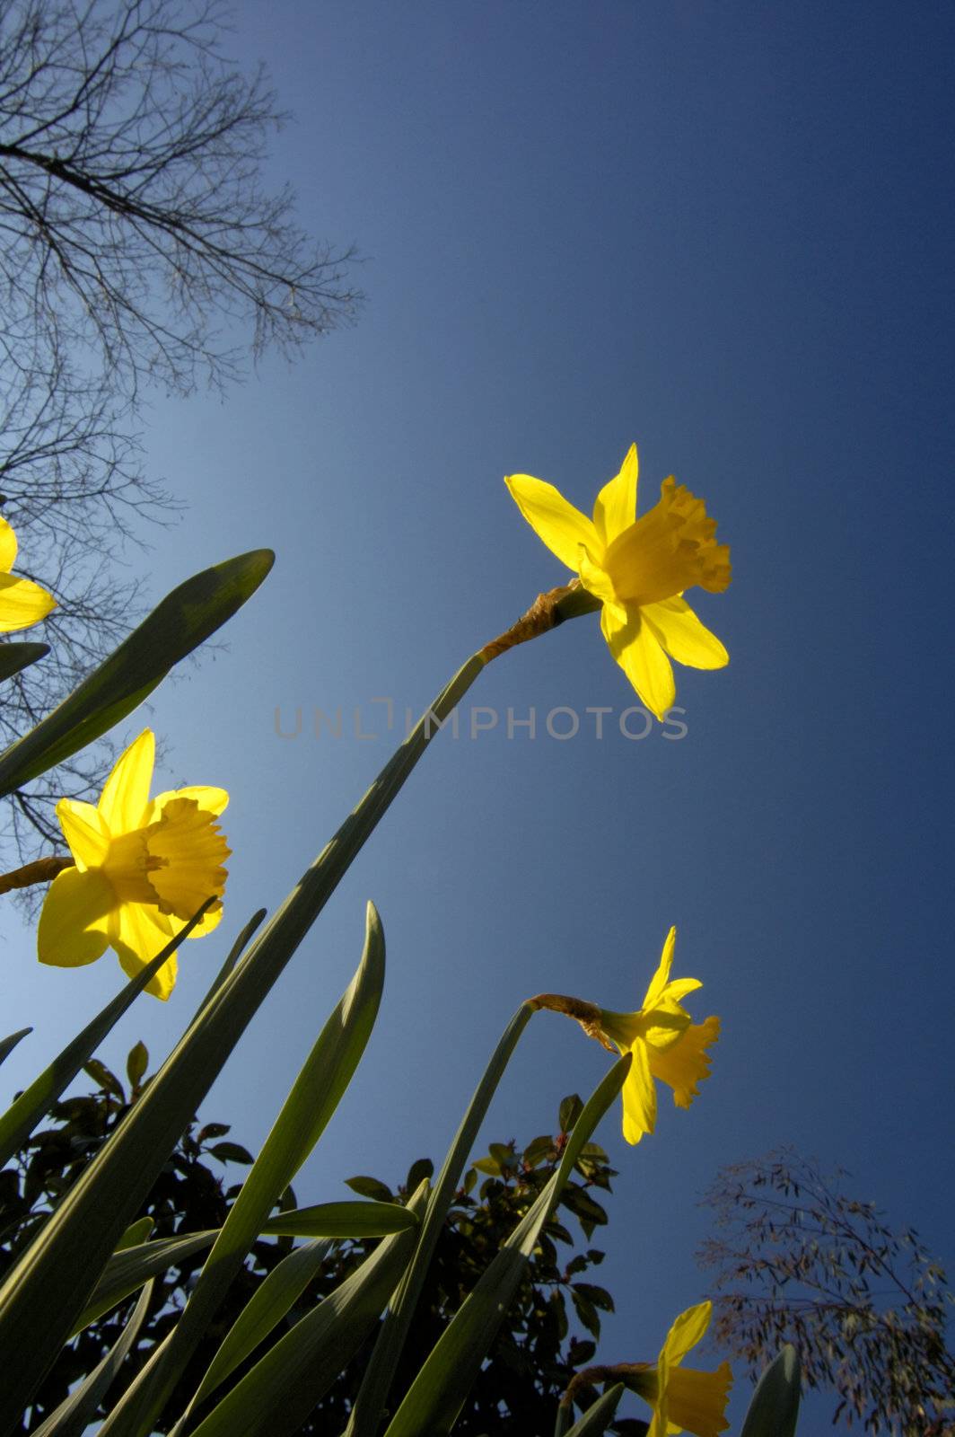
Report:
<svg viewBox="0 0 955 1437"><path fill-rule="evenodd" d="M190 934L210 933L221 918L230 855L215 819L224 789L188 787L149 798L155 740L149 729L116 760L99 803L60 799L56 816L75 868L59 874L46 895L37 931L40 963L79 967L115 948L134 977L178 927L215 897ZM167 999L175 954L146 984Z"/></svg>

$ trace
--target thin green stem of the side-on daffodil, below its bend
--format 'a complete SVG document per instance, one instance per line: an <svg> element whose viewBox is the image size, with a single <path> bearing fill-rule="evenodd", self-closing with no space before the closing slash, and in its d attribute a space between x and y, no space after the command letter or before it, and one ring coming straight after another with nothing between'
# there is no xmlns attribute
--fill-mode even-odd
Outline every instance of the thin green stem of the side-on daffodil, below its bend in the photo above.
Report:
<svg viewBox="0 0 955 1437"><path fill-rule="evenodd" d="M385 1313L382 1329L378 1334L378 1341L362 1377L362 1385L349 1414L343 1437L375 1437L381 1427L382 1413L388 1401L388 1390L391 1388L395 1368L401 1358L408 1328L414 1319L421 1286L431 1265L435 1244L441 1236L444 1220L448 1216L454 1194L461 1184L464 1165L474 1147L478 1129L484 1122L491 1098L497 1092L501 1075L533 1013L534 1009L527 1003L521 1003L517 1009L501 1035L501 1040L494 1049L491 1061L484 1069L484 1075L461 1119L461 1127L454 1137L435 1181L428 1211L421 1226L421 1237L418 1239L415 1256L408 1263L408 1269L398 1283Z"/></svg>

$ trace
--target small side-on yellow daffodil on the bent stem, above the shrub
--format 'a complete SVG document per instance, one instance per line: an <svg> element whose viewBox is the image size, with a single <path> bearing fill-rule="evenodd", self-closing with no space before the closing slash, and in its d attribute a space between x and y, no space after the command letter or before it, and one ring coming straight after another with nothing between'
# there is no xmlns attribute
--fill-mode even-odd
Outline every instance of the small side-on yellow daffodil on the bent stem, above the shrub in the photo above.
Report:
<svg viewBox="0 0 955 1437"><path fill-rule="evenodd" d="M622 1092L623 1137L628 1142L639 1142L645 1132L653 1131L655 1079L669 1083L678 1108L691 1105L697 1083L709 1076L707 1048L719 1038L718 1017L694 1023L679 1002L702 983L698 979L671 980L675 943L676 928L671 928L639 1012L600 1009L600 1017L593 1025L595 1036L607 1038L622 1053L633 1055Z"/></svg>

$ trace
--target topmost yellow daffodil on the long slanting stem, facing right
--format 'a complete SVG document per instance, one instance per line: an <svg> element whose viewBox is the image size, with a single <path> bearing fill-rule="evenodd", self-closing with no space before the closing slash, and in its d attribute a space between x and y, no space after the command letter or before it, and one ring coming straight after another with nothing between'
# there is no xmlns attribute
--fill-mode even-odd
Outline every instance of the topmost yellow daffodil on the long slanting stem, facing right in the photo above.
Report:
<svg viewBox="0 0 955 1437"><path fill-rule="evenodd" d="M672 477L663 480L659 503L638 519L636 473L632 444L620 473L597 494L593 519L530 474L506 483L534 533L600 599L610 652L651 713L663 718L676 698L671 658L691 668L730 662L682 596L694 583L722 593L730 547L717 543L704 500Z"/></svg>

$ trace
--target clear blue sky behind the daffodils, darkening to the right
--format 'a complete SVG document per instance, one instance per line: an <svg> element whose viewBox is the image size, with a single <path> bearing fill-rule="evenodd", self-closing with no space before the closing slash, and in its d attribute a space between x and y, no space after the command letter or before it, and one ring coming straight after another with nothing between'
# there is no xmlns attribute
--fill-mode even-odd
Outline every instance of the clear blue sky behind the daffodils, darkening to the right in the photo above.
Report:
<svg viewBox="0 0 955 1437"><path fill-rule="evenodd" d="M954 40L932 0L236 13L236 57L263 59L294 112L270 178L316 234L358 243L368 305L224 402L144 412L151 467L190 502L151 535L155 595L243 549L279 558L228 651L145 714L169 746L162 786L233 796L227 920L105 1056L136 1038L168 1050L244 918L281 900L391 752L375 700L404 727L566 581L501 477L589 509L636 440L642 507L676 474L732 546L728 593L695 605L731 664L678 670L685 737L623 737L638 700L593 616L501 658L204 1105L261 1141L373 898L382 1016L297 1188L396 1181L441 1158L521 999L636 1007L676 923L675 970L704 980L689 1002L724 1036L689 1112L662 1102L636 1150L616 1112L600 1131L620 1170L599 1243L607 1361L651 1358L705 1290L695 1203L715 1170L783 1142L843 1164L854 1196L955 1266ZM316 737L315 710L339 706L342 737ZM471 706L498 726L468 737ZM302 733L280 737L276 710L289 731L297 707ZM373 737L355 736L356 707ZM508 707L536 710L533 740L508 739ZM557 707L580 716L574 737L547 734ZM42 970L16 920L4 933L6 1030L36 1025L7 1066L23 1083L119 970ZM536 1017L487 1138L551 1131L605 1065Z"/></svg>

